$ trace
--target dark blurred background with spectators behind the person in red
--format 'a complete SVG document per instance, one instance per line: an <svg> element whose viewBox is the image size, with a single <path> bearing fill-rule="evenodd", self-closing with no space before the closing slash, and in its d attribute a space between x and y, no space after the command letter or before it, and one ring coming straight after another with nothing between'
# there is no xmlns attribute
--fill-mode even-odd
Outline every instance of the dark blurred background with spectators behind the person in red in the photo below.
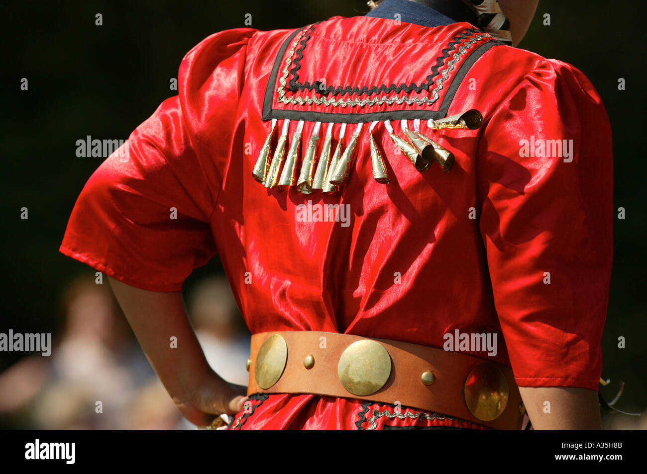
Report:
<svg viewBox="0 0 647 474"><path fill-rule="evenodd" d="M601 391L610 400L620 381L626 382L618 406L628 411L642 411L647 404L643 10L637 1L542 0L520 45L582 70L611 119L614 204L616 210L626 209L626 219L615 220L602 373L611 384ZM121 381L112 403L122 407L124 417L132 416L116 427L182 428L111 294L104 291L107 280L98 290L94 271L58 253L74 201L102 161L77 158L76 140L87 135L127 139L160 102L177 94L170 90L170 79L177 77L184 54L214 32L245 26L246 14L260 30L296 28L334 15L362 15L366 2L10 1L0 11L5 20L0 176L7 236L1 246L0 332L53 333L58 352L66 353L62 348L67 347L68 354L67 362L65 357L57 362L53 355L0 353L0 428L113 427L114 422L96 424L74 413L75 404L99 399L76 382L87 380L84 371L92 372L73 362L83 347L93 347L96 364L112 367L106 371L113 370L114 380ZM102 26L95 26L98 13ZM551 15L551 26L543 25L543 14ZM20 89L23 77L28 90ZM626 90L618 89L620 77ZM20 219L21 207L28 208L28 220ZM214 339L214 351L244 356L246 329L226 284L217 278L221 274L216 257L188 278L184 291L190 307L202 308L193 313L204 310L203 322L194 324L202 324ZM214 306L214 298L225 303ZM95 318L94 325L87 318ZM214 342L228 331L239 341L234 349ZM626 349L618 348L619 336L626 338ZM124 367L127 373L120 373ZM47 415L64 406L71 413L60 414L61 419ZM148 418L142 407L151 410ZM624 427L637 420L612 415L603 421L607 427Z"/></svg>

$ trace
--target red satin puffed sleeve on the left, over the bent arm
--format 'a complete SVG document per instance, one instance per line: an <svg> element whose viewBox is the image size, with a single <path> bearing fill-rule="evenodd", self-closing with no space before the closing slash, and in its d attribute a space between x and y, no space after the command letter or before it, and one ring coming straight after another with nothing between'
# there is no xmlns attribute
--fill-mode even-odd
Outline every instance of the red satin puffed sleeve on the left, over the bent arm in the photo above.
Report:
<svg viewBox="0 0 647 474"><path fill-rule="evenodd" d="M83 187L63 254L151 291L180 291L192 270L214 256L209 221L253 33L220 32L188 52L179 95L162 102Z"/></svg>

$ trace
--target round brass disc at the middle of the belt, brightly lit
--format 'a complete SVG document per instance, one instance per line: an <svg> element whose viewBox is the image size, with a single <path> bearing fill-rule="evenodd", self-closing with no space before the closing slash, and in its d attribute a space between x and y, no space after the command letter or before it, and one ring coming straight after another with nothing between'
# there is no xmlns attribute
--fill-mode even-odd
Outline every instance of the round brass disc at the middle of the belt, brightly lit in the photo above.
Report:
<svg viewBox="0 0 647 474"><path fill-rule="evenodd" d="M353 395L371 395L389 379L391 356L377 341L366 339L353 342L339 358L337 375L342 386Z"/></svg>

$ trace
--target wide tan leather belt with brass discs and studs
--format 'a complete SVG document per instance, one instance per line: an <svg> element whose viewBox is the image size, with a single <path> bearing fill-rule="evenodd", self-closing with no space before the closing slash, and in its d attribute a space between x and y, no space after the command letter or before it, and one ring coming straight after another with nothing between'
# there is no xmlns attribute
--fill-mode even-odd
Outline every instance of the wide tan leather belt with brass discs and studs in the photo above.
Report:
<svg viewBox="0 0 647 474"><path fill-rule="evenodd" d="M494 429L520 429L512 370L437 347L318 331L252 335L247 395L311 393L435 411Z"/></svg>

